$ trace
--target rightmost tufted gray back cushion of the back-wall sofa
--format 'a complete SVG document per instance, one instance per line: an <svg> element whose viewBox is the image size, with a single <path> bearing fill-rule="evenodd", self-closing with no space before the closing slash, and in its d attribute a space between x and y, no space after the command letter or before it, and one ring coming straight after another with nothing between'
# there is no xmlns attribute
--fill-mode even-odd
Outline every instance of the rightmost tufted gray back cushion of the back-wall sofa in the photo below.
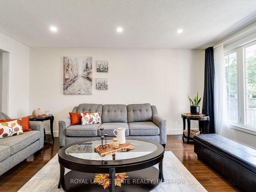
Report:
<svg viewBox="0 0 256 192"><path fill-rule="evenodd" d="M131 122L152 121L150 103L127 105L127 120Z"/></svg>

